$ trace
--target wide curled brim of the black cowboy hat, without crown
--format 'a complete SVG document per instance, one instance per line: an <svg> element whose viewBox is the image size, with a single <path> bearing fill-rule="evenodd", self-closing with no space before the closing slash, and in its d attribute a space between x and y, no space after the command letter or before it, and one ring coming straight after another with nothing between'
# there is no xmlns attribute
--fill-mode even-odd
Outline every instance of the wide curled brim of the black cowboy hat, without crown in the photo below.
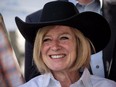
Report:
<svg viewBox="0 0 116 87"><path fill-rule="evenodd" d="M15 21L23 37L31 44L34 43L39 28L50 25L65 25L77 28L91 40L96 52L105 48L111 35L108 22L104 17L94 12L83 12L64 20L48 22L27 23L18 17L15 18Z"/></svg>

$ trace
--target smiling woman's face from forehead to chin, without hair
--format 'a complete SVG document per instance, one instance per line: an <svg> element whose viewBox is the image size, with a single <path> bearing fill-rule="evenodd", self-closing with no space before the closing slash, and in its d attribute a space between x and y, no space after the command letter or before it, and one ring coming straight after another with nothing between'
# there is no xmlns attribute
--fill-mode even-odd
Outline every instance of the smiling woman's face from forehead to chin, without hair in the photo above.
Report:
<svg viewBox="0 0 116 87"><path fill-rule="evenodd" d="M41 54L52 71L68 70L76 59L76 40L67 26L51 28L43 38Z"/></svg>

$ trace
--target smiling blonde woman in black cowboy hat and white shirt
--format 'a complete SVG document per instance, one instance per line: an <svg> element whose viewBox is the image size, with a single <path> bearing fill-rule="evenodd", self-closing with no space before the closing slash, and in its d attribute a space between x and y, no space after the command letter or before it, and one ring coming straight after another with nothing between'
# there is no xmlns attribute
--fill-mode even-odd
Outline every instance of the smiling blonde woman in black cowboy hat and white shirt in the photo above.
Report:
<svg viewBox="0 0 116 87"><path fill-rule="evenodd" d="M70 2L53 1L44 5L40 22L18 17L15 21L24 38L34 44L34 62L42 74L20 87L116 87L88 70L91 50L99 52L110 39L109 24L101 15L79 13Z"/></svg>

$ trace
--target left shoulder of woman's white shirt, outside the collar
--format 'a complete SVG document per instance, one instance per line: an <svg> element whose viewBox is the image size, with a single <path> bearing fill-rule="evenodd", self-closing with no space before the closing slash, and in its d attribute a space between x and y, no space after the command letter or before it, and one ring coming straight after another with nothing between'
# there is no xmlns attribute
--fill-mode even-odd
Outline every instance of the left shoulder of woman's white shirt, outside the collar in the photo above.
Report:
<svg viewBox="0 0 116 87"><path fill-rule="evenodd" d="M47 83L47 77L49 77L48 74L37 76L19 87L43 87Z"/></svg>

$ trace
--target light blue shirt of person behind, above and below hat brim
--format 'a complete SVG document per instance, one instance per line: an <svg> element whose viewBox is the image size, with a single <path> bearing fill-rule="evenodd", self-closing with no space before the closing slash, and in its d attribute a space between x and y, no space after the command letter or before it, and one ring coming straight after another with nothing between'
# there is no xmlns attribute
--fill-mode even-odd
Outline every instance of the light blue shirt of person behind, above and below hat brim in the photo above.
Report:
<svg viewBox="0 0 116 87"><path fill-rule="evenodd" d="M102 8L102 0L99 0L100 3L98 3L97 0L92 0L87 5L81 5L79 4L78 0L69 0L69 2L72 2L74 5L78 4L77 8L79 12L85 12L85 11L92 11L96 12L102 15L101 8ZM93 54L91 56L91 70L94 75L105 77L104 72L104 64L103 64L103 52L100 51L97 54Z"/></svg>

